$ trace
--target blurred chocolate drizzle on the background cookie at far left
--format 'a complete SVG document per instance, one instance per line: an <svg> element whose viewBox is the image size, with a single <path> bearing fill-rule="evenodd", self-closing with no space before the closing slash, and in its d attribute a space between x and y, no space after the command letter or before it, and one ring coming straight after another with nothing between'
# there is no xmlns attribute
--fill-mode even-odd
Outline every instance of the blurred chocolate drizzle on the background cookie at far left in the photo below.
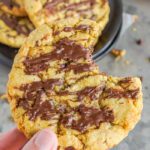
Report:
<svg viewBox="0 0 150 150"><path fill-rule="evenodd" d="M15 30L19 34L23 34L28 36L29 33L32 31L30 28L28 28L27 25L19 24L19 19L15 16L9 16L7 14L1 14L0 19L4 21L4 23L9 26L11 29Z"/></svg>

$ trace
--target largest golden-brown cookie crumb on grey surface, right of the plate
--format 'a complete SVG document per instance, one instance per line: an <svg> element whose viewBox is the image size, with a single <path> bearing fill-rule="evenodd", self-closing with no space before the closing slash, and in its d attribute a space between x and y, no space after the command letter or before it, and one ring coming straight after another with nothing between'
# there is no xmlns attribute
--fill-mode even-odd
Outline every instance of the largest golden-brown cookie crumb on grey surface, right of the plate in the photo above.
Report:
<svg viewBox="0 0 150 150"><path fill-rule="evenodd" d="M120 60L126 55L126 50L112 49L111 54L116 57L116 60Z"/></svg>

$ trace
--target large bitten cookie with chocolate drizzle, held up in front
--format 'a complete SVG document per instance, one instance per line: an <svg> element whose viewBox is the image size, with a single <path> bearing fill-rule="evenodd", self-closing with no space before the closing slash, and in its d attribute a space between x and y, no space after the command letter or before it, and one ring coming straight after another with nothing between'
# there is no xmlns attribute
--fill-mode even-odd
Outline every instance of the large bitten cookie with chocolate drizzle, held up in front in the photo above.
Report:
<svg viewBox="0 0 150 150"><path fill-rule="evenodd" d="M91 32L57 35L58 24L40 26L19 50L7 88L12 116L28 138L50 127L59 150L112 148L140 119L141 81L101 73L91 58Z"/></svg>

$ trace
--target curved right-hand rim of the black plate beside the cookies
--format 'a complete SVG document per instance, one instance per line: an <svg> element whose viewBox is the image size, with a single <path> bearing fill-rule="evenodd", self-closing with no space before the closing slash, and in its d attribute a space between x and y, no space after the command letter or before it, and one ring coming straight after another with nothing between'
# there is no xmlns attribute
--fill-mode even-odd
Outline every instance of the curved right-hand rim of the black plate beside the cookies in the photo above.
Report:
<svg viewBox="0 0 150 150"><path fill-rule="evenodd" d="M94 60L103 58L119 38L123 22L123 6L121 0L109 0L110 17L102 36L99 38L93 54Z"/></svg>

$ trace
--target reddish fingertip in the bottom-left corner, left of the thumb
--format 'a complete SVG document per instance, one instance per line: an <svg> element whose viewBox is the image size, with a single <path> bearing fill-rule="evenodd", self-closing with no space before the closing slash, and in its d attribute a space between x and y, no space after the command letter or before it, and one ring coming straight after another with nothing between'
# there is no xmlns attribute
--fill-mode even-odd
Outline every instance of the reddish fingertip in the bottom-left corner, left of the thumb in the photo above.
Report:
<svg viewBox="0 0 150 150"><path fill-rule="evenodd" d="M0 150L19 150L26 142L26 137L16 128L0 134Z"/></svg>

